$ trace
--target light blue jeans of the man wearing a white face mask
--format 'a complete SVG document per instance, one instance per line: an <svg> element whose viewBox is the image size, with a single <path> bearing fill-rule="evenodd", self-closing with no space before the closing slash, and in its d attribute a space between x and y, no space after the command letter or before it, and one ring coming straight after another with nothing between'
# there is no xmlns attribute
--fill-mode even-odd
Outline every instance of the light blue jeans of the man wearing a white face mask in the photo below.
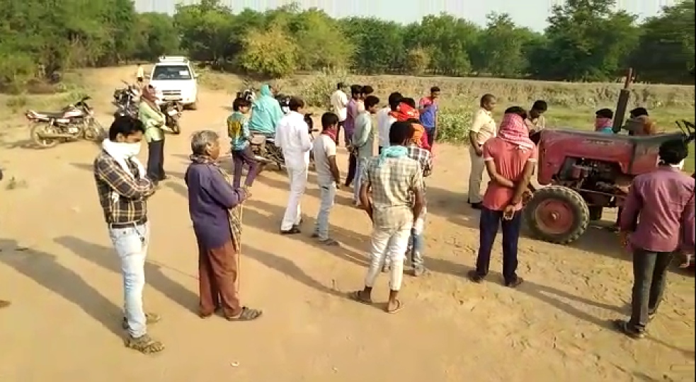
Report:
<svg viewBox="0 0 696 382"><path fill-rule="evenodd" d="M149 243L149 224L127 228L109 227L109 236L121 260L123 277L123 310L128 322L128 334L142 337L147 333L142 291L145 287L145 254Z"/></svg>

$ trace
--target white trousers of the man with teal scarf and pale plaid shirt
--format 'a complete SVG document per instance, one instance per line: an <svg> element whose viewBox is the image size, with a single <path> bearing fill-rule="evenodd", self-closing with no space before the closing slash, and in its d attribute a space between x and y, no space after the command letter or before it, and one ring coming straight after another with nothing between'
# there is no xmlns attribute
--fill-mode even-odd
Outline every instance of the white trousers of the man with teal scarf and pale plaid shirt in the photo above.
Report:
<svg viewBox="0 0 696 382"><path fill-rule="evenodd" d="M413 227L412 215L401 219L394 227L375 226L372 230L370 243L370 267L365 276L365 287L372 288L377 280L377 275L382 271L382 265L389 259L391 269L389 273L389 289L398 291L404 280L404 255L409 246L411 227Z"/></svg>

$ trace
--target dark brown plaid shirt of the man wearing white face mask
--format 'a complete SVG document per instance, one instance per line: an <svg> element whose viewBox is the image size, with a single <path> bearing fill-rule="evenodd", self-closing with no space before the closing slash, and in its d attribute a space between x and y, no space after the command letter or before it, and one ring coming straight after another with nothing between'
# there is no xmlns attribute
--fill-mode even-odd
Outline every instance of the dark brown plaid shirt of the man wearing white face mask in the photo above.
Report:
<svg viewBox="0 0 696 382"><path fill-rule="evenodd" d="M94 180L107 224L147 219L145 200L154 193L154 184L147 178L139 178L137 166L131 161L127 163L135 179L105 151L94 160Z"/></svg>

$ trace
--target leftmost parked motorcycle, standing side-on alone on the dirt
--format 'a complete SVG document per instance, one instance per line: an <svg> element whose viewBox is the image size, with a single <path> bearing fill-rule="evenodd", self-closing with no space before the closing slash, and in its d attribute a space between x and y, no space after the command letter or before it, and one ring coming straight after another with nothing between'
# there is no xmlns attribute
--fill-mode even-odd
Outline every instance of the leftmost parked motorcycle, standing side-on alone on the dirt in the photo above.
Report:
<svg viewBox="0 0 696 382"><path fill-rule="evenodd" d="M76 139L101 141L106 132L87 104L89 99L84 96L59 112L27 110L25 117L29 121L31 140L44 149Z"/></svg>

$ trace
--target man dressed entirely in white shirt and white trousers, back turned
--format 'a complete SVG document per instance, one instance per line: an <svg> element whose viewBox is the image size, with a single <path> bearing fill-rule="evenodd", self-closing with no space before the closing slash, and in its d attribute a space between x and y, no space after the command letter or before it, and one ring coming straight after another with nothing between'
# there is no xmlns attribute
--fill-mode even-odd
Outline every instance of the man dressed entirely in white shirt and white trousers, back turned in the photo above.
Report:
<svg viewBox="0 0 696 382"><path fill-rule="evenodd" d="M302 220L300 199L307 187L307 168L309 168L309 151L312 150L312 137L309 126L304 122L302 109L304 101L297 97L290 98L290 112L278 122L275 129L275 144L283 150L285 170L290 181L290 195L287 197L287 207L280 233L292 235L299 233Z"/></svg>

